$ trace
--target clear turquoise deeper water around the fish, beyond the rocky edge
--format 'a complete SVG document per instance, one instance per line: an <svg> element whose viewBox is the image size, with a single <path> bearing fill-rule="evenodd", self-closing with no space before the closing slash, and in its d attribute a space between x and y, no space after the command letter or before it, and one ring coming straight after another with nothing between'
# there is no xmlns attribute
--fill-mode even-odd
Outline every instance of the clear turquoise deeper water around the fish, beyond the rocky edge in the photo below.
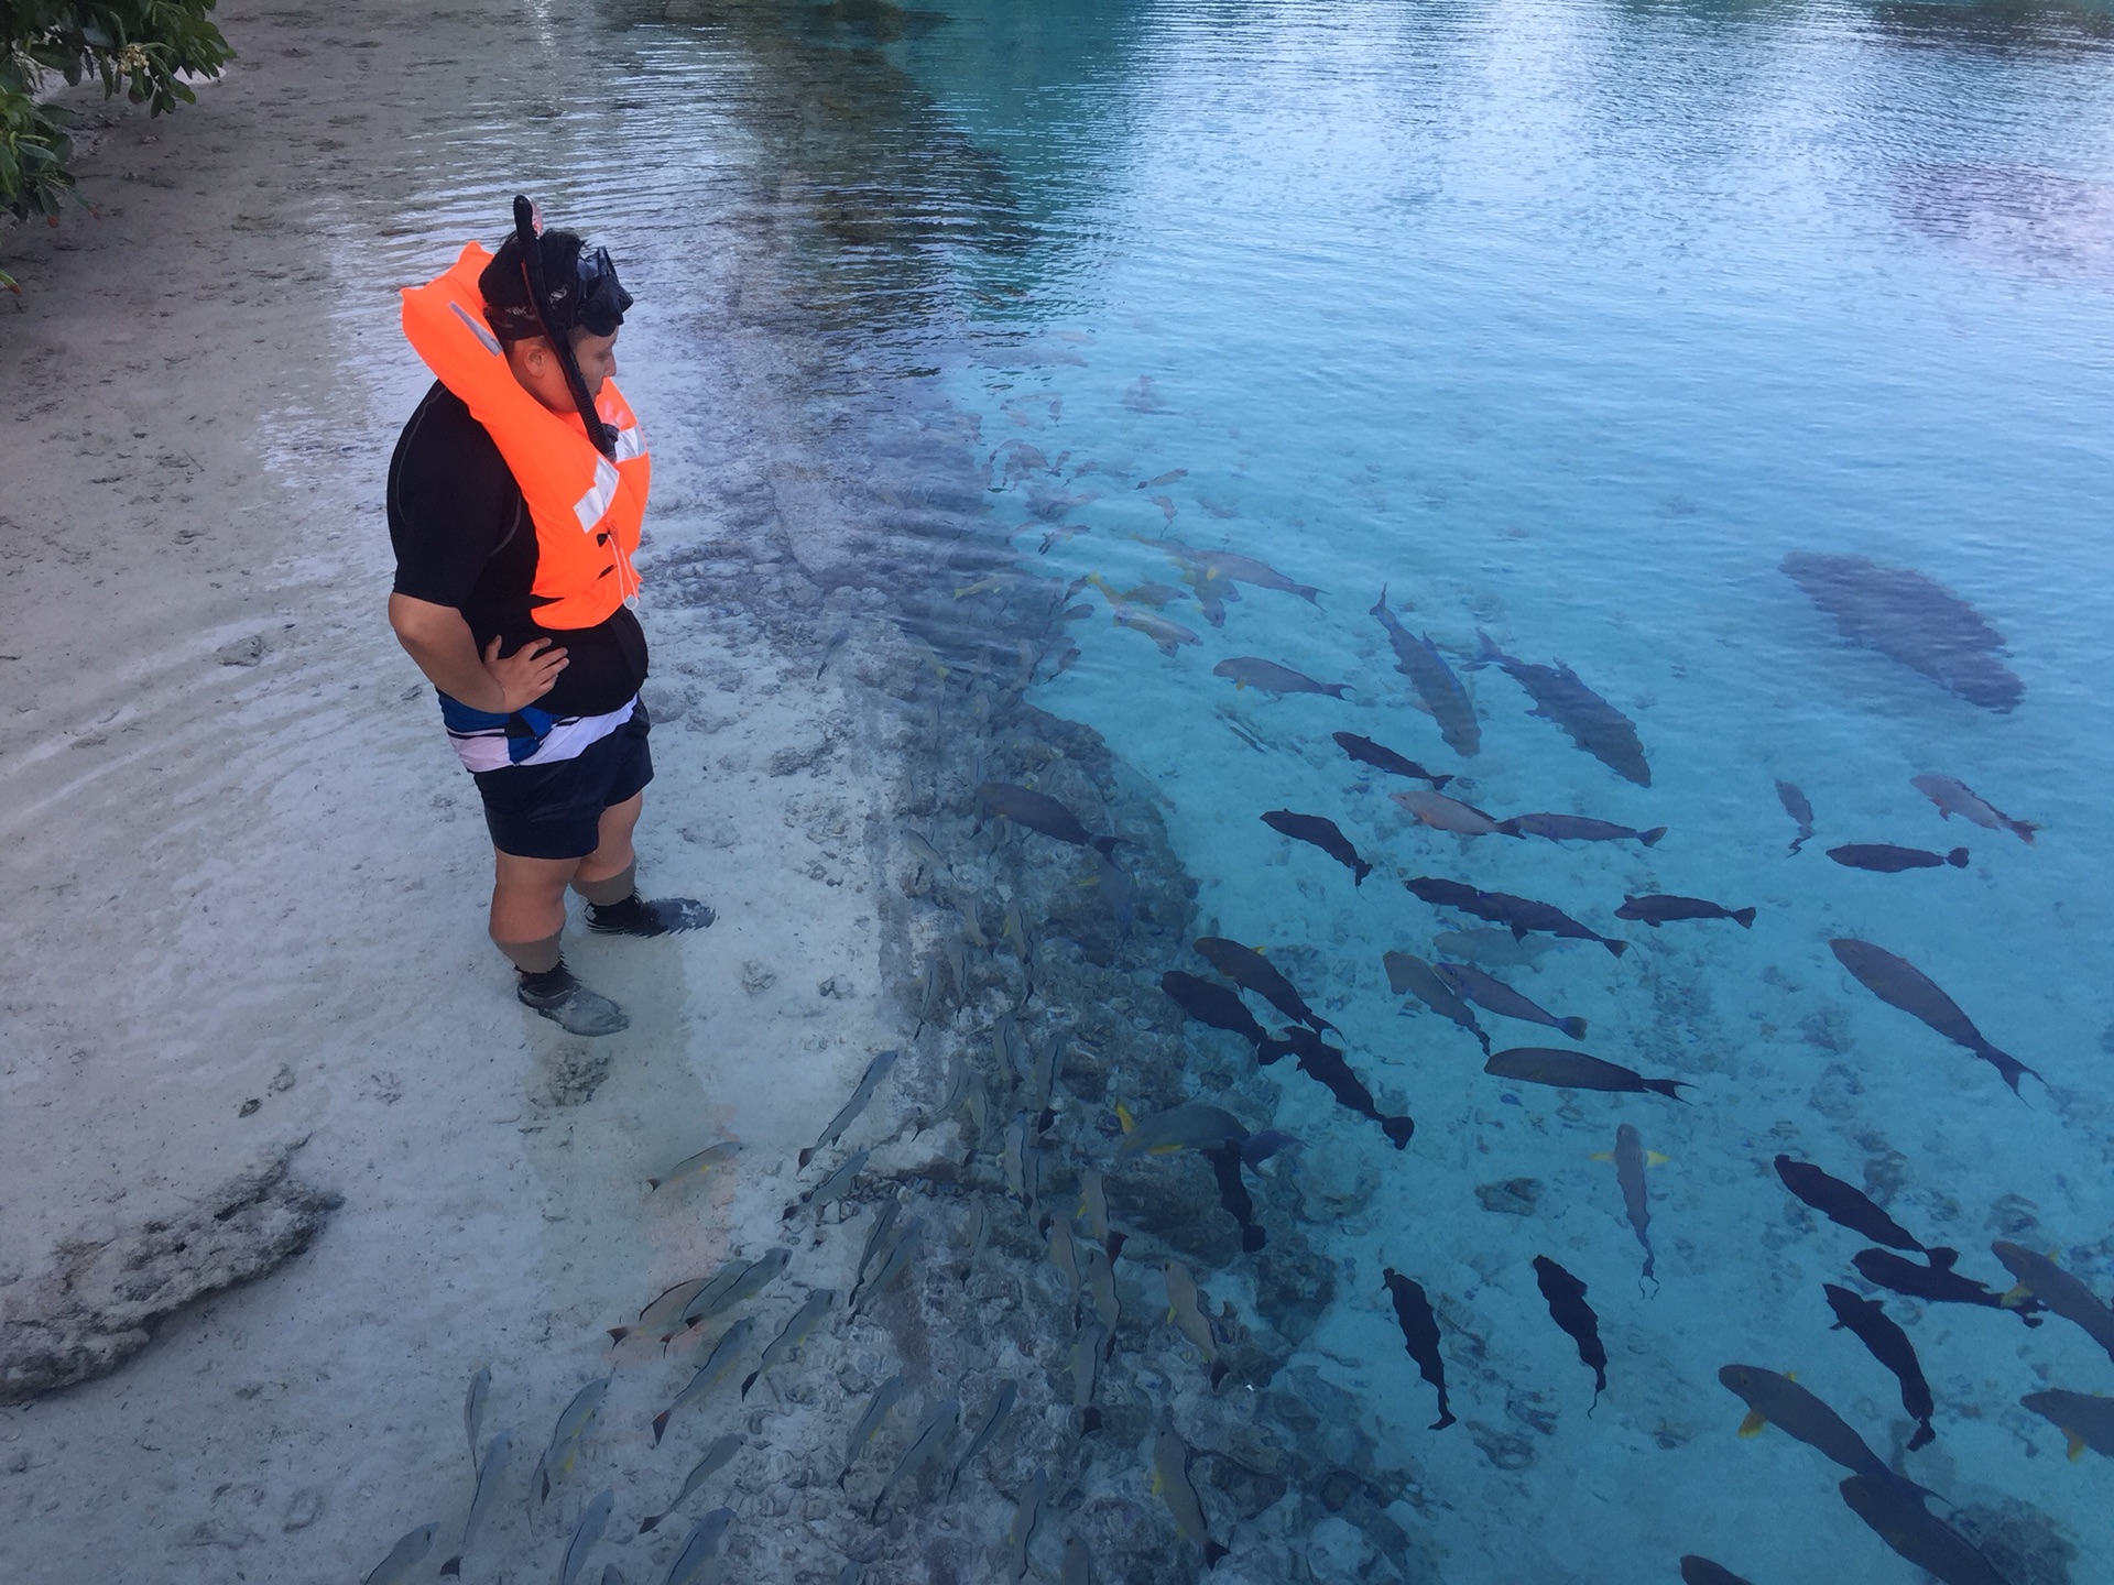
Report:
<svg viewBox="0 0 2114 1585"><path fill-rule="evenodd" d="M1243 588L1222 630L1175 600L1161 615L1199 642L1163 655L1089 585L1076 661L1032 697L1152 782L1203 926L1271 947L1383 1110L1418 1120L1397 1156L1290 1074L1275 1118L1306 1141L1290 1171L1357 1190L1321 1234L1342 1298L1302 1363L1410 1471L1442 1577L1672 1579L1704 1553L1757 1585L1915 1579L1831 1490L1843 1471L1778 1431L1736 1435L1731 1361L1797 1372L1958 1505L2006 1577L2114 1577L2114 1465L2065 1460L2019 1407L2114 1388L2103 1350L2063 1321L1879 1293L1939 1405L1936 1443L1900 1454L1894 1380L1829 1331L1820 1291L1869 1291L1862 1241L1769 1167L1791 1152L1871 1186L1998 1289L2000 1236L2114 1289L2114 19L1590 0L816 15L981 161L975 201L934 180L920 256L941 290L879 315L869 355L939 366L981 416L1017 571L1173 585L1182 568L1137 539L1173 537L1321 590ZM2023 702L1977 708L1848 642L1778 571L1791 552L1947 585L2008 640ZM1467 680L1473 759L1393 670L1368 615L1383 585ZM1469 670L1478 630L1632 716L1653 784ZM1349 693L1237 691L1211 674L1237 655ZM1385 797L1412 784L1383 786L1332 731L1497 814L1670 835L1647 852L1427 831ZM1943 824L1909 786L1924 771L2044 835ZM1816 809L1797 858L1776 778ZM1271 807L1336 820L1376 873L1353 888L1264 826ZM1826 858L1846 841L1964 843L1970 866L1865 873ZM1586 1050L1693 1082L1693 1105L1484 1076L1473 1040L1389 993L1383 951L1435 957L1461 924L1397 875L1545 898L1636 943L1497 972L1590 1019ZM1621 926L1628 892L1759 919ZM1917 964L2046 1082L2015 1099L1858 987L1831 936ZM1670 1158L1649 1173L1657 1285L1594 1158L1619 1122ZM1541 1183L1528 1215L1484 1209L1478 1186L1518 1177ZM1600 1317L1590 1416L1537 1253ZM1383 1266L1433 1295L1459 1426L1425 1429ZM1243 1302L1237 1274L1211 1287Z"/></svg>

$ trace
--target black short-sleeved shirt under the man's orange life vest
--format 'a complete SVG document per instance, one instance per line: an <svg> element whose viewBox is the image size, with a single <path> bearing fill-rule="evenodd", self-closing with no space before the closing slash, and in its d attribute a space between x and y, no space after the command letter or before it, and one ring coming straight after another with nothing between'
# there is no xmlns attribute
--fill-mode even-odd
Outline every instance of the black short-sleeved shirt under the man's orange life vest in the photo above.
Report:
<svg viewBox="0 0 2114 1585"><path fill-rule="evenodd" d="M630 607L592 628L539 628L535 524L490 433L440 380L389 459L389 543L395 592L455 607L478 640L512 655L535 638L567 653L556 685L533 704L556 716L619 710L647 680L647 636Z"/></svg>

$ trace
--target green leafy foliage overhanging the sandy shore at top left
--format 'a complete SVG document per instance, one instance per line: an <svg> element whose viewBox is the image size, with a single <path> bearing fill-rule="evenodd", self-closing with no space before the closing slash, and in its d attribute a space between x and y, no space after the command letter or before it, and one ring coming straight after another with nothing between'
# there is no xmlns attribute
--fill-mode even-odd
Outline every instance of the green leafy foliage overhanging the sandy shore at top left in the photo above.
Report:
<svg viewBox="0 0 2114 1585"><path fill-rule="evenodd" d="M74 114L38 93L63 78L99 78L150 114L192 104L184 74L220 76L235 53L214 27L214 0L0 0L0 211L15 220L59 209L74 194ZM0 271L0 287L17 290Z"/></svg>

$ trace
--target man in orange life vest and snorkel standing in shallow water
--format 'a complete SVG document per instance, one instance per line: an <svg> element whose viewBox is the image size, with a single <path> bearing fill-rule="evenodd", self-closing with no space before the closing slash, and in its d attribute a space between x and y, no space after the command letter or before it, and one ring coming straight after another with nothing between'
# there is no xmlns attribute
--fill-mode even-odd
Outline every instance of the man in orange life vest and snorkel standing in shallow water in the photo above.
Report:
<svg viewBox="0 0 2114 1585"><path fill-rule="evenodd" d="M598 934L712 924L634 885L653 759L632 613L649 463L611 380L630 306L607 249L541 230L516 199L497 256L471 243L404 292L404 334L438 378L389 463L389 626L484 799L493 943L520 1000L575 1036L628 1019L564 966L567 885Z"/></svg>

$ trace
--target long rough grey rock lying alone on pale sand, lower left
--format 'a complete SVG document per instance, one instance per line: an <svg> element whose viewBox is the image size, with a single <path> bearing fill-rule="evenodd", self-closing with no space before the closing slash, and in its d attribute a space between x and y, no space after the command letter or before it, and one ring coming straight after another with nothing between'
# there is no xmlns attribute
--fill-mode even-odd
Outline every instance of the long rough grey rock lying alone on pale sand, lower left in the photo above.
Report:
<svg viewBox="0 0 2114 1585"><path fill-rule="evenodd" d="M0 1403L108 1376L154 1327L207 1293L292 1260L342 1205L290 1175L288 1145L182 1215L59 1245L0 1310Z"/></svg>

